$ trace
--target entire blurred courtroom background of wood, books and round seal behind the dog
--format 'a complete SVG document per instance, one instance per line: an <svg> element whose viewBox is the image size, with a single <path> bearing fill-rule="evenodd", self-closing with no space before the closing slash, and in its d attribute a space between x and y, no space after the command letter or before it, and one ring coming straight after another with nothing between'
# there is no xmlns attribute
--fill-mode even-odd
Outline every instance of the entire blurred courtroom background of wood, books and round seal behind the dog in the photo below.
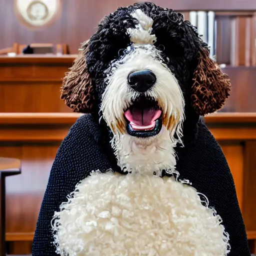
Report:
<svg viewBox="0 0 256 256"><path fill-rule="evenodd" d="M51 164L79 116L60 101L59 90L80 42L105 14L133 2L0 0L1 251L31 253ZM154 2L179 10L198 26L211 57L231 79L225 106L205 121L230 166L256 253L256 0Z"/></svg>

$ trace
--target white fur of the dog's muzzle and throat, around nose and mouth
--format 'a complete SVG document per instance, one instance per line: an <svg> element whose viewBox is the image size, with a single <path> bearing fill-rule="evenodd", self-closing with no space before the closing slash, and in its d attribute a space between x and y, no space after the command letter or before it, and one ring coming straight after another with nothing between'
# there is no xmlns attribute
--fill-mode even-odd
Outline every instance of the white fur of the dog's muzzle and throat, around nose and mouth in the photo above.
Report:
<svg viewBox="0 0 256 256"><path fill-rule="evenodd" d="M157 136L141 139L127 134L124 110L138 96L138 92L128 85L127 76L132 70L143 69L150 69L156 75L156 83L145 95L159 102L166 125ZM184 98L177 79L162 62L160 52L152 45L127 48L124 56L114 61L106 73L107 86L102 95L101 110L114 134L112 148L118 165L127 170L158 174L163 169L173 171L176 164L174 147L176 143L182 143Z"/></svg>

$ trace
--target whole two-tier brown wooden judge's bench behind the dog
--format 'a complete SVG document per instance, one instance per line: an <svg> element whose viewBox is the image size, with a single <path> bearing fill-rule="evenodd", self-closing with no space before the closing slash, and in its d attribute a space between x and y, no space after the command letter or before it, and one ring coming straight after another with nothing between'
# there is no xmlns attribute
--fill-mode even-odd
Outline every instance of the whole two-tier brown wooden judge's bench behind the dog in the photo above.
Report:
<svg viewBox="0 0 256 256"><path fill-rule="evenodd" d="M6 178L10 254L31 253L51 164L80 115L59 99L61 78L73 59L74 55L0 56L0 156L21 160L21 174ZM205 121L230 166L251 252L255 253L256 67L226 67L224 71L230 75L232 94L223 112L207 116Z"/></svg>

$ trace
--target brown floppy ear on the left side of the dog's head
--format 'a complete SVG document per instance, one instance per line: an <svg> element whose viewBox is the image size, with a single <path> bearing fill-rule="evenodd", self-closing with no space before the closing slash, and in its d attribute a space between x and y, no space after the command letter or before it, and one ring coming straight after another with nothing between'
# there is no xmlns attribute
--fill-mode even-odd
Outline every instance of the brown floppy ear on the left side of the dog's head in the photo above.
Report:
<svg viewBox="0 0 256 256"><path fill-rule="evenodd" d="M65 74L60 99L74 112L91 113L96 107L95 90L85 61L88 41L81 44L78 56Z"/></svg>

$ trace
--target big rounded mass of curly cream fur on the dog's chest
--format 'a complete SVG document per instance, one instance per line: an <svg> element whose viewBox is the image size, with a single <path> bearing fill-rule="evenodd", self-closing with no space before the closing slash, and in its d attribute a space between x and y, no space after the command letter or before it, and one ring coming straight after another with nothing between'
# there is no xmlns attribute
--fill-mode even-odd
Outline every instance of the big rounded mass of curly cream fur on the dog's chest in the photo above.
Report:
<svg viewBox="0 0 256 256"><path fill-rule="evenodd" d="M60 209L53 220L60 255L226 255L219 216L172 177L92 172Z"/></svg>

